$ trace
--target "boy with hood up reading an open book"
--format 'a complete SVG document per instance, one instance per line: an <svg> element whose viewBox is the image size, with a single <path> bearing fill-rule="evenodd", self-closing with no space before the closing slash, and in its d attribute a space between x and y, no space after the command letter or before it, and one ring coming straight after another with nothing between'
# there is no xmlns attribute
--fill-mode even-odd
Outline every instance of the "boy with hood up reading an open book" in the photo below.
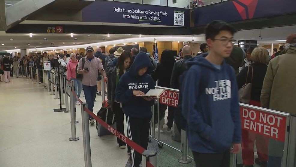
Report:
<svg viewBox="0 0 296 167"><path fill-rule="evenodd" d="M152 117L152 98L136 97L155 89L154 81L148 74L153 71L146 53L139 53L128 72L123 74L115 90L115 100L122 103L126 116L128 138L147 149L150 120ZM131 166L139 167L142 155L131 148Z"/></svg>

